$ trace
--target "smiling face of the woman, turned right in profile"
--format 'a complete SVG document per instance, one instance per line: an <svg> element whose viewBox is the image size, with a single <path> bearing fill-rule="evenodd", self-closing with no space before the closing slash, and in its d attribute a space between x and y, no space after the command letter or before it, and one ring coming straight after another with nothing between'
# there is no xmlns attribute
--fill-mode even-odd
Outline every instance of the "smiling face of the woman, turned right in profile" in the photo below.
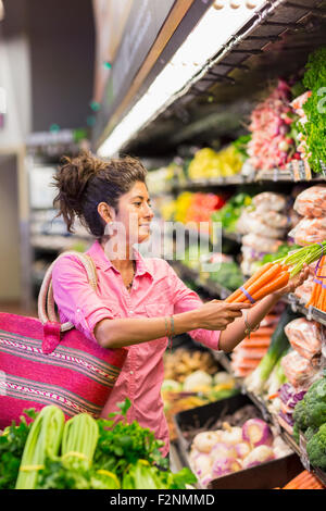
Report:
<svg viewBox="0 0 326 511"><path fill-rule="evenodd" d="M153 216L147 186L136 182L130 191L120 198L114 221L123 224L127 240L133 245L149 238Z"/></svg>

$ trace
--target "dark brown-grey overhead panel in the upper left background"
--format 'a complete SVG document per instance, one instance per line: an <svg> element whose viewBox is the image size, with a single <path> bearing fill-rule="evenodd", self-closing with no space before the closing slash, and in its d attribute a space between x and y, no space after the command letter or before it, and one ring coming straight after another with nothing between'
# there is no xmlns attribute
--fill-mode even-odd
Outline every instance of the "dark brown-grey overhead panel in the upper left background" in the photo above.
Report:
<svg viewBox="0 0 326 511"><path fill-rule="evenodd" d="M7 39L29 40L33 132L87 125L93 90L91 0L4 0Z"/></svg>

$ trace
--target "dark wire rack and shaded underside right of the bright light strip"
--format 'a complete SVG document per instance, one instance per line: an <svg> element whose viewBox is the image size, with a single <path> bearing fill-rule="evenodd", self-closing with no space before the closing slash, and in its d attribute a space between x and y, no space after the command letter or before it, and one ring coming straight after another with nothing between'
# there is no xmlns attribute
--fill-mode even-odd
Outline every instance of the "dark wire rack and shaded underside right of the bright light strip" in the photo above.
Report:
<svg viewBox="0 0 326 511"><path fill-rule="evenodd" d="M209 72L145 126L123 152L185 155L191 146L218 147L244 133L252 105L268 85L278 77L300 77L308 54L326 45L326 1L286 1L249 37L239 36L239 42L221 59L217 54Z"/></svg>

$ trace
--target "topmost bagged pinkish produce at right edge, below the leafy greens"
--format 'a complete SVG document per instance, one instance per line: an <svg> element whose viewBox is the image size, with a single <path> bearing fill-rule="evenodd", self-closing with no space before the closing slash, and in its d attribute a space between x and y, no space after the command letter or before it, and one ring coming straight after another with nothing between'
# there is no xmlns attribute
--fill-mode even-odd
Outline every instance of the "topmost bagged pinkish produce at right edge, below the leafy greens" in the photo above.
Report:
<svg viewBox="0 0 326 511"><path fill-rule="evenodd" d="M297 197L293 209L302 216L326 216L326 186L317 185L303 190Z"/></svg>

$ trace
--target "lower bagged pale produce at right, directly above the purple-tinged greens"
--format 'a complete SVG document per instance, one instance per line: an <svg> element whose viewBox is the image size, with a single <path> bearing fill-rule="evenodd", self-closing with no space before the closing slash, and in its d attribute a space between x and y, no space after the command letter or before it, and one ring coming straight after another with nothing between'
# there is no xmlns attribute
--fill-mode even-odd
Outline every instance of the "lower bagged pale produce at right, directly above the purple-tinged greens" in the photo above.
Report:
<svg viewBox="0 0 326 511"><path fill-rule="evenodd" d="M318 370L313 366L311 361L294 350L286 354L280 364L286 377L296 388L308 388L318 374Z"/></svg>

